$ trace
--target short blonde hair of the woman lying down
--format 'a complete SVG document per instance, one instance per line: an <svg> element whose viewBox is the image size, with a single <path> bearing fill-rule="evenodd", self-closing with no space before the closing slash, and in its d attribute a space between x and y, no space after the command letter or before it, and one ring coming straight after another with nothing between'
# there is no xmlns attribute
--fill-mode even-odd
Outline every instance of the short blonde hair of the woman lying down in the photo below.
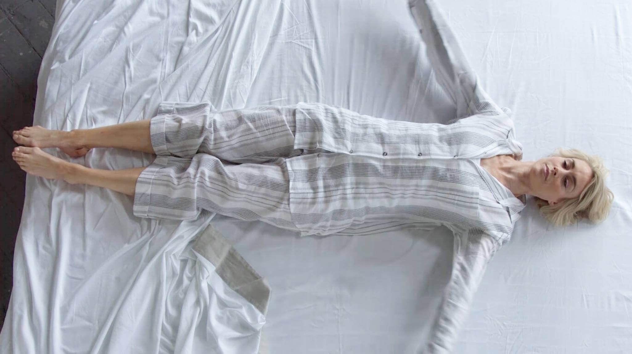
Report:
<svg viewBox="0 0 632 354"><path fill-rule="evenodd" d="M584 160L592 169L593 176L588 186L578 198L566 199L554 205L549 205L544 199L535 197L540 207L540 214L555 226L573 225L580 219L588 219L593 223L600 223L610 213L614 194L605 186L605 176L609 170L597 155L588 155L577 149L559 148L549 156L579 158Z"/></svg>

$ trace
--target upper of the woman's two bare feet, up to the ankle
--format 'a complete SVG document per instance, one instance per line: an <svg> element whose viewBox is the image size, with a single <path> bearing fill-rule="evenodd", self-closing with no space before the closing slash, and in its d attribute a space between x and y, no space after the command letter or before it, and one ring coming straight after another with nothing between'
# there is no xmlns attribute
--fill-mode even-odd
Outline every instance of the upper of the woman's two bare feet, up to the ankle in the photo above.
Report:
<svg viewBox="0 0 632 354"><path fill-rule="evenodd" d="M13 140L20 145L38 148L60 148L71 157L80 157L90 149L75 143L70 131L46 129L40 126L24 127L13 132Z"/></svg>

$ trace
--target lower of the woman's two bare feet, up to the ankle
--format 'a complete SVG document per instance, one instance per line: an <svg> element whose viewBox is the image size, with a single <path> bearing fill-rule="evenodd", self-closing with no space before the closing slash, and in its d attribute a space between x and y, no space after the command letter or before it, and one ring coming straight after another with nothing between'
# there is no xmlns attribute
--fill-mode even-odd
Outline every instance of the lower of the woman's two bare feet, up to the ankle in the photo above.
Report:
<svg viewBox="0 0 632 354"><path fill-rule="evenodd" d="M20 165L20 168L27 174L44 177L47 179L63 179L71 182L73 177L73 167L75 163L70 163L61 158L51 156L40 148L27 148L20 146L13 149L13 160ZM72 182L71 182L72 183Z"/></svg>

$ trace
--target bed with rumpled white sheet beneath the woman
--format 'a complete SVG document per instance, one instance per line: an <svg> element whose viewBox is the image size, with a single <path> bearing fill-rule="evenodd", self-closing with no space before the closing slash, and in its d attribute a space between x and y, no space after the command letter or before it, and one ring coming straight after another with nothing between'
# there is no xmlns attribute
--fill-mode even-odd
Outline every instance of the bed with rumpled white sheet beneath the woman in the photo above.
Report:
<svg viewBox="0 0 632 354"><path fill-rule="evenodd" d="M599 154L616 195L604 223L566 228L547 225L530 201L453 352L628 352L632 7L440 6L487 92L513 110L524 160L558 146ZM443 123L455 110L406 0L58 0L38 85L34 124L64 130L147 119L162 102L322 102ZM151 161L116 149L73 160ZM420 353L451 274L447 228L298 237L210 213L141 219L131 208L123 194L27 177L0 351ZM238 301L216 276L213 259L226 254L269 301Z"/></svg>

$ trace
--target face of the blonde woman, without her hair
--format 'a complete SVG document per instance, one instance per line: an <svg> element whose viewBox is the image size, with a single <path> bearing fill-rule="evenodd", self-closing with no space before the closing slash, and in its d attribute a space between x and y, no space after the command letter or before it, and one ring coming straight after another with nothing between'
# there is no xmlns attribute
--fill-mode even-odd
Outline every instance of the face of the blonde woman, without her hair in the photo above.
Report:
<svg viewBox="0 0 632 354"><path fill-rule="evenodd" d="M552 205L580 196L592 179L592 169L579 158L545 157L533 163L529 179L533 196Z"/></svg>

